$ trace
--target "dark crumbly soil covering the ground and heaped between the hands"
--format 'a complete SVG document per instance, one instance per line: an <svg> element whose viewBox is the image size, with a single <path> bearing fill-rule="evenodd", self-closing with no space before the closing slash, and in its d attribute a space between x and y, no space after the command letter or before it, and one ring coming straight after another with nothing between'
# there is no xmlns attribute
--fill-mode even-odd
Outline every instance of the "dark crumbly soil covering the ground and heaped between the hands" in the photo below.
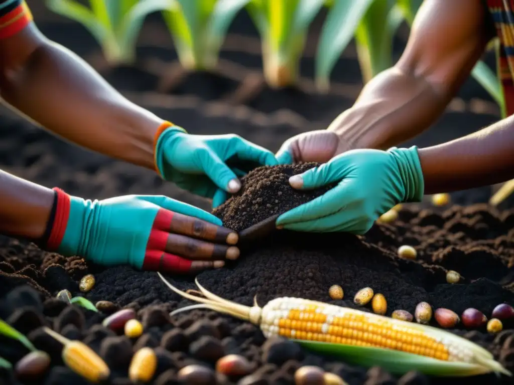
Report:
<svg viewBox="0 0 514 385"><path fill-rule="evenodd" d="M38 26L49 38L93 64L129 99L191 133L236 133L276 151L297 133L326 127L352 105L361 88L355 47L351 46L334 69L331 91L320 95L314 90L310 79L322 15L311 28L301 61L299 87L276 91L262 82L260 41L245 13L231 27L219 69L215 73L185 73L177 65L171 38L158 15L149 17L142 30L138 63L108 68L98 60L99 47L83 27L63 23L63 18L45 11L42 2L28 3ZM396 57L404 45L405 39L395 43ZM404 145L438 144L498 119L494 109L480 110L482 100L490 102L490 98L474 80L469 79L458 96L462 105L457 105L461 107L449 110L433 127ZM0 167L35 183L59 186L84 198L162 194L210 208L206 200L162 182L152 171L69 145L14 117L7 109L0 109L0 138ZM295 173L311 166L297 166L300 168L294 168ZM242 229L322 192L292 190L287 184L292 171L292 167L282 166L250 172L242 192L219 207L216 214L226 226ZM507 209L514 199L502 204L502 211L498 211L484 204L490 196L491 188L486 186L452 194L453 203L469 207L407 205L395 223L374 226L362 237L281 230L253 245L227 268L206 271L198 279L213 293L246 305L258 295L260 305L272 298L295 296L353 307L357 290L371 286L386 296L387 315L395 309L414 312L415 305L424 300L434 309L448 307L461 313L472 306L490 316L498 303L514 304L514 210ZM416 261L396 257L402 244L416 248ZM460 272L464 281L447 284L447 269ZM86 274L94 274L97 283L84 295L78 290L78 281ZM180 288L194 287L191 278L169 279ZM328 297L332 284L344 288L343 300L332 301ZM143 335L132 340L101 326L110 311L93 313L55 299L64 288L93 302L107 300L118 307L135 309L144 326ZM351 385L511 383L511 379L494 375L467 379L430 378L416 373L393 376L380 368L355 367L309 354L296 343L265 342L258 327L213 312L192 311L169 318L170 311L187 304L190 302L169 291L155 273L138 272L127 266L103 268L0 236L0 318L27 334L36 347L52 358L50 370L34 383L84 383L63 365L62 345L42 331L44 325L68 338L82 340L97 351L113 372L111 383L118 385L131 383L127 379L128 362L134 350L143 346L157 352L158 369L152 381L157 385L177 383L176 373L184 365L202 363L212 368L217 357L229 353L242 354L252 362L253 382L247 384L293 383L293 373L303 364L320 365ZM506 324L498 335L460 326L453 332L483 345L512 371L513 327ZM0 339L0 356L11 362L26 353L22 345ZM17 382L0 370L0 384L3 383Z"/></svg>

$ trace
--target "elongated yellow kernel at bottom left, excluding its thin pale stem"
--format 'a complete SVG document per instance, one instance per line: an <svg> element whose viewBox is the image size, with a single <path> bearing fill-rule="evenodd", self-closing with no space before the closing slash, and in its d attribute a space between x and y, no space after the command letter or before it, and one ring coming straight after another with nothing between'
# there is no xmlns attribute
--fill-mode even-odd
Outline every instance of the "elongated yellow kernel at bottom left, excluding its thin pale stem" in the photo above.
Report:
<svg viewBox="0 0 514 385"><path fill-rule="evenodd" d="M90 382L100 382L109 377L107 364L83 342L69 341L64 345L62 357L69 369Z"/></svg>

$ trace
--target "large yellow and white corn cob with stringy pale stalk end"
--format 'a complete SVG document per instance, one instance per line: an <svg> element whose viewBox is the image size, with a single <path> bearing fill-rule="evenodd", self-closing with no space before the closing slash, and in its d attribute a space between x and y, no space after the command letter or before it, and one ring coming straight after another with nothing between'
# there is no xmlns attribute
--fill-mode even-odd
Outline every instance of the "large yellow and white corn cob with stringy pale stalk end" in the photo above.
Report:
<svg viewBox="0 0 514 385"><path fill-rule="evenodd" d="M206 297L201 298L178 290L157 274L175 293L201 302L175 310L171 316L192 309L210 309L260 325L266 338L283 336L300 341L381 348L439 361L469 363L482 373L511 375L479 345L431 326L301 298L276 298L263 307L254 299L253 306L244 306L208 292L195 280Z"/></svg>

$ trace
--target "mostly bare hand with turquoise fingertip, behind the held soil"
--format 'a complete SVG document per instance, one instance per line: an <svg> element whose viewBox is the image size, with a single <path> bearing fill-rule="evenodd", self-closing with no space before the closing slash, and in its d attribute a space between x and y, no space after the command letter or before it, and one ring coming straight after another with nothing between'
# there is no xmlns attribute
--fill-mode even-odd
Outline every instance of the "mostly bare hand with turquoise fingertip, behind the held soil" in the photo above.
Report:
<svg viewBox="0 0 514 385"><path fill-rule="evenodd" d="M277 152L279 164L298 162L325 163L350 150L333 131L316 130L300 133L286 140Z"/></svg>

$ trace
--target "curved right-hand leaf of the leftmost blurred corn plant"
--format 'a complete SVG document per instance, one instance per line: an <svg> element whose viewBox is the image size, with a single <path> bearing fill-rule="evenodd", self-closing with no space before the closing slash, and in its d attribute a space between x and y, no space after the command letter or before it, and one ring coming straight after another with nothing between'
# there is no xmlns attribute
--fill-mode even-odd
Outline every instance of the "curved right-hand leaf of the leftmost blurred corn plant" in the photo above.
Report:
<svg viewBox="0 0 514 385"><path fill-rule="evenodd" d="M143 25L144 19L150 13L165 11L173 7L173 0L143 0L134 2L133 7L126 10L120 8L123 14L122 23L119 27L120 47L123 52L131 56L132 50L136 45L136 39ZM124 7L128 7L129 2L125 2Z"/></svg>

